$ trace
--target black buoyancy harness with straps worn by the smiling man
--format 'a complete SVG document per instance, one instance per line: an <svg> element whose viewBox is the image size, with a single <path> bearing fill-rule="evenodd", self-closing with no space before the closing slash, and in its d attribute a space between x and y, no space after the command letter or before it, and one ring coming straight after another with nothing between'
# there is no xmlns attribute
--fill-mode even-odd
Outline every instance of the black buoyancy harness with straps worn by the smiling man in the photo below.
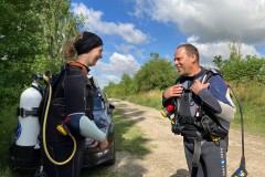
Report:
<svg viewBox="0 0 265 177"><path fill-rule="evenodd" d="M177 80L176 84L183 84L183 92L181 97L174 100L174 117L171 121L174 134L181 134L194 142L193 167L199 165L202 140L218 143L221 138L226 138L229 133L220 124L220 119L205 110L202 100L198 95L192 94L191 86L194 80L199 80L204 84L212 76L220 75L215 70L208 71L202 69L201 72L200 76L179 77Z"/></svg>

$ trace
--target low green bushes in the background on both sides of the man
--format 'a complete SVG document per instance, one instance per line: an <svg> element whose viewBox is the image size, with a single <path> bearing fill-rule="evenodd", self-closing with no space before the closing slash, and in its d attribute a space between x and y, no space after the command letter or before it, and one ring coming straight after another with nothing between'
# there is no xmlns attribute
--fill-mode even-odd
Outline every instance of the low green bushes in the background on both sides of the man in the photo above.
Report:
<svg viewBox="0 0 265 177"><path fill-rule="evenodd" d="M219 69L223 77L227 82L234 84L265 84L265 58L256 55L242 56L236 42L230 48L231 54L229 59L222 59L216 55L213 59L213 67ZM150 59L141 65L140 70L130 77L124 74L119 83L110 82L104 87L104 91L110 97L124 97L128 94L138 94L151 90L165 90L172 85L179 76L177 69L165 58L160 58L158 53L151 53ZM254 84L254 85L255 85Z"/></svg>

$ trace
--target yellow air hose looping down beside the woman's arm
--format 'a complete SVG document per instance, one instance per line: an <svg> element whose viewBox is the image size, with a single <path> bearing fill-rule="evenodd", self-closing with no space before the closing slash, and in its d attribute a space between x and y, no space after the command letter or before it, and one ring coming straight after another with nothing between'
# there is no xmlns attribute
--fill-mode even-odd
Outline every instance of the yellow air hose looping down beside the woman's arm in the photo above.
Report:
<svg viewBox="0 0 265 177"><path fill-rule="evenodd" d="M64 162L56 162L49 154L49 150L47 150L47 147L46 147L46 119L47 119L47 113L49 113L51 98L52 98L52 86L51 86L51 82L50 82L49 76L44 75L43 80L47 85L47 96L49 96L47 103L46 103L46 106L45 106L45 114L44 114L43 126L42 126L42 129L43 129L42 131L43 148L44 148L44 152L45 152L45 154L46 154L46 156L47 156L47 158L51 163L53 163L54 165L65 165L74 157L74 154L76 152L76 140L75 140L74 136L70 132L67 132L66 135L70 135L70 137L73 139L74 148L73 148L73 153L71 154L71 156Z"/></svg>

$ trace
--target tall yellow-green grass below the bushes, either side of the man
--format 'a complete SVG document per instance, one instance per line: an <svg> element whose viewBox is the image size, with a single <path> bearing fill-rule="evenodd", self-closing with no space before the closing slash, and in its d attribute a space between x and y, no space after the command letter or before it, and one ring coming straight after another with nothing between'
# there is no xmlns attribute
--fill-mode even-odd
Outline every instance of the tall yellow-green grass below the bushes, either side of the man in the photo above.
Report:
<svg viewBox="0 0 265 177"><path fill-rule="evenodd" d="M242 105L245 132L253 135L265 136L265 85L254 82L248 84L232 83L231 85ZM149 91L136 95L128 95L123 98L131 103L160 110L162 106L162 92L163 91ZM236 106L236 114L231 125L232 128L240 129L240 108L235 97L233 97L233 101Z"/></svg>

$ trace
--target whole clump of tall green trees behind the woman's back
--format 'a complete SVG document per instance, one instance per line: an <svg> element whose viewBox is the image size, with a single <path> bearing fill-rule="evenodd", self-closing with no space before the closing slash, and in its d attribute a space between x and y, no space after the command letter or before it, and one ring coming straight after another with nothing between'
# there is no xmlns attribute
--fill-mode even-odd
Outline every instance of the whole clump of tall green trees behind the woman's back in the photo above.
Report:
<svg viewBox="0 0 265 177"><path fill-rule="evenodd" d="M18 100L32 74L59 70L62 44L81 23L68 0L0 0L0 98L7 105L2 98Z"/></svg>

